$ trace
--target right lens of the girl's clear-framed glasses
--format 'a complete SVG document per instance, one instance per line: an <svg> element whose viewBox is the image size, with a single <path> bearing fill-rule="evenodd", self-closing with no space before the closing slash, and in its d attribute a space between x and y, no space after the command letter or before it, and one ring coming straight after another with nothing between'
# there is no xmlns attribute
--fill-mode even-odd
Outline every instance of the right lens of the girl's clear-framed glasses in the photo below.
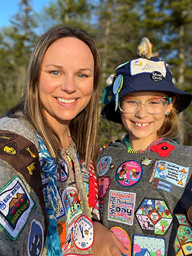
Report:
<svg viewBox="0 0 192 256"><path fill-rule="evenodd" d="M145 102L145 107L149 113L163 113L168 106L166 99L149 99Z"/></svg>

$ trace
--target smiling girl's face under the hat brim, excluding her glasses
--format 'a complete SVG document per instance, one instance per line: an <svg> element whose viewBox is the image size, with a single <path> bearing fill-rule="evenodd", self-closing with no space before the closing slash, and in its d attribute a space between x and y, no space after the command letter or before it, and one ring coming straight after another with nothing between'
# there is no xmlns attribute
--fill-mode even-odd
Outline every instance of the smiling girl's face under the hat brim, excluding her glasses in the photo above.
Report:
<svg viewBox="0 0 192 256"><path fill-rule="evenodd" d="M166 93L163 92L133 92L125 95L126 97L133 97L145 102L145 100L151 99L153 97L167 97ZM150 114L145 109L144 104L141 104L140 109L132 114L126 114L121 112L121 118L127 131L129 131L130 140L157 140L157 131L161 128L164 122L164 117L167 112L170 113L174 99L172 98L172 103L168 105L168 108L164 113L161 114ZM150 143L149 142L149 143Z"/></svg>

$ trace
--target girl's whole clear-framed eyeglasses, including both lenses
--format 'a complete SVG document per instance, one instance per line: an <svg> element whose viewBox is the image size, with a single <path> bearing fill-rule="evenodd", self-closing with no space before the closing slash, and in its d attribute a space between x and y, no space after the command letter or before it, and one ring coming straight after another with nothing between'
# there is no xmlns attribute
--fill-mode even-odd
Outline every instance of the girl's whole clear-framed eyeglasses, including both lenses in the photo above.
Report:
<svg viewBox="0 0 192 256"><path fill-rule="evenodd" d="M148 113L161 114L166 111L171 102L172 98L169 97L155 97L144 102L131 97L123 97L118 101L118 108L124 113L131 114L137 112L141 104L144 104Z"/></svg>

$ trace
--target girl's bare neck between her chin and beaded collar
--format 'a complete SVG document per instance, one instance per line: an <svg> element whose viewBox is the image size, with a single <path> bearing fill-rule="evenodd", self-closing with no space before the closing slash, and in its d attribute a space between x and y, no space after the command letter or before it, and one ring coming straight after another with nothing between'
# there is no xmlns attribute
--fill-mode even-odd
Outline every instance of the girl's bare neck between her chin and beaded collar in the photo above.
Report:
<svg viewBox="0 0 192 256"><path fill-rule="evenodd" d="M155 140L159 139L157 134L150 136L148 138L135 138L131 134L129 134L129 144L132 149L136 150L146 150L146 148Z"/></svg>

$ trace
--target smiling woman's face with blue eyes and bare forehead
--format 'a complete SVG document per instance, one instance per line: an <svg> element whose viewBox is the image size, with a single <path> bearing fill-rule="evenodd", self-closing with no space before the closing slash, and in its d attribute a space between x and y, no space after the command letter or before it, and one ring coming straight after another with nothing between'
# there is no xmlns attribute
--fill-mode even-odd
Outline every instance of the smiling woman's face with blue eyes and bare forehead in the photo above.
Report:
<svg viewBox="0 0 192 256"><path fill-rule="evenodd" d="M50 124L69 125L92 97L94 60L88 45L77 38L61 38L45 53L39 93Z"/></svg>

